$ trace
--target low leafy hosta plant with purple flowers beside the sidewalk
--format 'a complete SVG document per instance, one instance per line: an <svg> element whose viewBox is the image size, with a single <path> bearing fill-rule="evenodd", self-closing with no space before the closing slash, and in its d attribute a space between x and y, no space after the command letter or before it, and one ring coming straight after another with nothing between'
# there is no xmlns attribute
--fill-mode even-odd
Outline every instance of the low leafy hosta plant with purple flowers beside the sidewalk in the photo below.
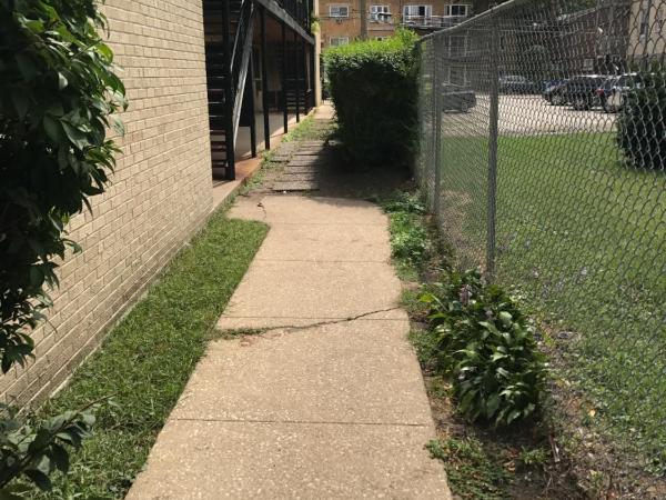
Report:
<svg viewBox="0 0 666 500"><path fill-rule="evenodd" d="M431 307L436 366L471 420L509 424L534 413L546 363L515 301L477 271L452 273L421 298Z"/></svg>

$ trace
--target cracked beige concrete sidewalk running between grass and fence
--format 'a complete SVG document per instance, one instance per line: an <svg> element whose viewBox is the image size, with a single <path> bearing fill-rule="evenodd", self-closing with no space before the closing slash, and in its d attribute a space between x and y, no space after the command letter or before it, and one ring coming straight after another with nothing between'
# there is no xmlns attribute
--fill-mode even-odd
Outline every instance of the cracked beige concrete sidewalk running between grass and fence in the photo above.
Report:
<svg viewBox="0 0 666 500"><path fill-rule="evenodd" d="M241 199L271 227L128 499L450 499L397 307L387 220L349 199Z"/></svg>

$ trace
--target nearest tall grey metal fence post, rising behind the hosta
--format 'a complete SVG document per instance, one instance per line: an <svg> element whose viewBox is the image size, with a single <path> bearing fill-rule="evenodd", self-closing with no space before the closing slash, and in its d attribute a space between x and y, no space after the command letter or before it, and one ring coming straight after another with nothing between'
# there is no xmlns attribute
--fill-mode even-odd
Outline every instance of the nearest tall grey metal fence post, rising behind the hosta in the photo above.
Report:
<svg viewBox="0 0 666 500"><path fill-rule="evenodd" d="M487 207L487 241L486 241L486 277L492 280L495 276L495 224L497 221L497 139L500 134L500 37L496 19L492 19L491 37L491 110L488 129L488 207Z"/></svg>

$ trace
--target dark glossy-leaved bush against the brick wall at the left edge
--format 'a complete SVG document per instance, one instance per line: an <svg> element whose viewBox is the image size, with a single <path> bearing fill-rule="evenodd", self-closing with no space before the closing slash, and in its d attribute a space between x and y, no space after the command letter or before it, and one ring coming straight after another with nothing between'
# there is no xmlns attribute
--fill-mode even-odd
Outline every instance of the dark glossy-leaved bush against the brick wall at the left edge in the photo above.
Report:
<svg viewBox="0 0 666 500"><path fill-rule="evenodd" d="M103 192L117 148L107 139L124 106L95 0L0 0L0 358L3 372L32 357L30 331L51 304L56 258L75 242L70 218ZM91 417L69 412L28 427L0 412L0 494L26 474L48 488Z"/></svg>

